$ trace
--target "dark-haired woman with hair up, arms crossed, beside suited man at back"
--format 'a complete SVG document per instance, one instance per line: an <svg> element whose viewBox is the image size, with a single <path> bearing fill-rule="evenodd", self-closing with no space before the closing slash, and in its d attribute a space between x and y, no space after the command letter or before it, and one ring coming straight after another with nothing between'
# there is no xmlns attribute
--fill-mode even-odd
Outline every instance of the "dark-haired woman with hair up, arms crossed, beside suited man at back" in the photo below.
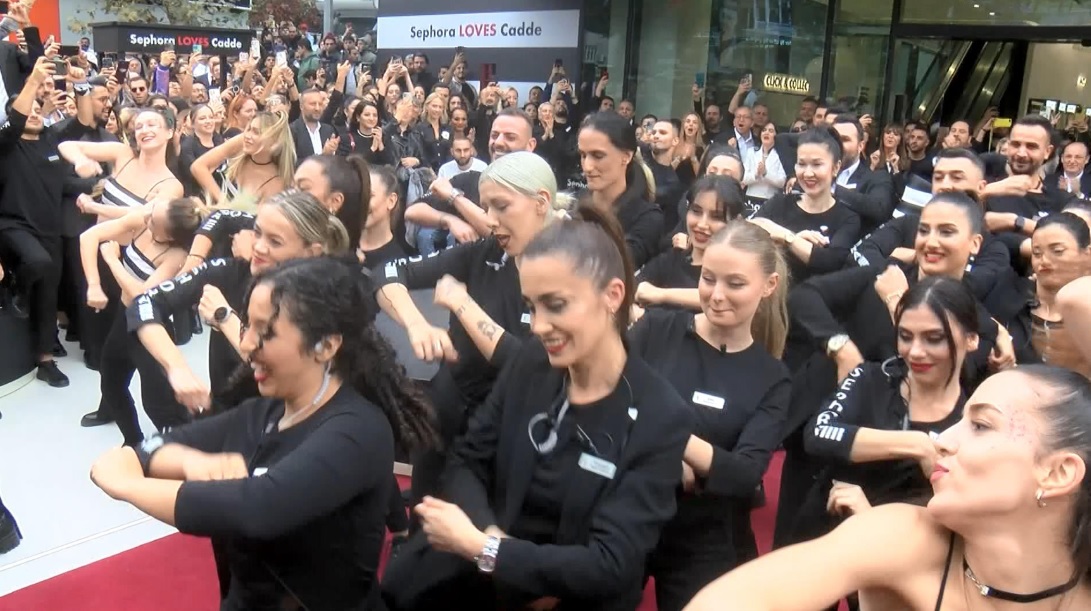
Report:
<svg viewBox="0 0 1091 611"><path fill-rule="evenodd" d="M844 266L860 239L860 217L831 192L841 171L841 143L828 129L800 135L795 179L802 194L776 195L752 217L789 253L792 281Z"/></svg>

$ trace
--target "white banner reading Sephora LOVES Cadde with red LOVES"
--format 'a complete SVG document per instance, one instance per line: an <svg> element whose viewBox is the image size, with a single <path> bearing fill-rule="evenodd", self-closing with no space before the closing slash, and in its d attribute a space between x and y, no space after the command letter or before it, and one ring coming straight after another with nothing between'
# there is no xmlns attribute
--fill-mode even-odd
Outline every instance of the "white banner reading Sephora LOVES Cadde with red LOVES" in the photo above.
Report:
<svg viewBox="0 0 1091 611"><path fill-rule="evenodd" d="M384 49L566 49L579 46L579 11L380 16Z"/></svg>

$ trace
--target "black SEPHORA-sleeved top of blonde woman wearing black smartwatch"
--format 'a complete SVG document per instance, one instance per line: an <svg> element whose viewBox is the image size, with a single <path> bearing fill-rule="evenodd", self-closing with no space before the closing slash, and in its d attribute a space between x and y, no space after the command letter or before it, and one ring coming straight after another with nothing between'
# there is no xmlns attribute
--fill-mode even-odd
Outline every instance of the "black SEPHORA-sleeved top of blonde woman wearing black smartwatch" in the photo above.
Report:
<svg viewBox="0 0 1091 611"><path fill-rule="evenodd" d="M205 285L224 293L228 306L244 314L243 301L250 288L250 262L241 259L212 259L192 271L167 280L133 300L125 311L130 333L146 324L160 324L171 328L171 315L189 315L190 309L201 302ZM252 378L231 384L235 371L242 359L221 333L208 339L208 378L212 383L212 408L220 411L235 407L243 398L257 396L257 384Z"/></svg>

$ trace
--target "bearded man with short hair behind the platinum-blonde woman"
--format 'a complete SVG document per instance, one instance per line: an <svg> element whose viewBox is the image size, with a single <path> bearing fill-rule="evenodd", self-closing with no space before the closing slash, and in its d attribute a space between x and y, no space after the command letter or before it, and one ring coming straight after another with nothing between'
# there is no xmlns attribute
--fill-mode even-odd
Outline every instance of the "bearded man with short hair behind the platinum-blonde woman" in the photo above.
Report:
<svg viewBox="0 0 1091 611"><path fill-rule="evenodd" d="M495 161L508 153L532 152L538 144L532 134L533 127L526 112L518 108L501 110L489 132L489 157ZM446 230L459 243L488 236L489 216L478 205L480 179L481 172L475 170L451 180L436 179L428 196L406 208L406 221L420 226L422 231Z"/></svg>

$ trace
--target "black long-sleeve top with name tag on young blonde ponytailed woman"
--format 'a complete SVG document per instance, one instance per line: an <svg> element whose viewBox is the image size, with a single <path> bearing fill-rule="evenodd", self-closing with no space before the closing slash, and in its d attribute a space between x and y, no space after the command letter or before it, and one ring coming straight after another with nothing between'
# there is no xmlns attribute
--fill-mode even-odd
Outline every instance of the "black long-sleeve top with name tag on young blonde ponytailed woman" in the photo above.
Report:
<svg viewBox="0 0 1091 611"><path fill-rule="evenodd" d="M730 505L751 506L780 444L791 379L762 346L721 351L694 328L692 312L649 311L628 334L632 354L645 359L688 403L693 433L712 445L712 466L699 490L682 494L660 547L692 543L712 523L730 522ZM730 504L726 511L724 501ZM744 513L745 515L745 513Z"/></svg>

